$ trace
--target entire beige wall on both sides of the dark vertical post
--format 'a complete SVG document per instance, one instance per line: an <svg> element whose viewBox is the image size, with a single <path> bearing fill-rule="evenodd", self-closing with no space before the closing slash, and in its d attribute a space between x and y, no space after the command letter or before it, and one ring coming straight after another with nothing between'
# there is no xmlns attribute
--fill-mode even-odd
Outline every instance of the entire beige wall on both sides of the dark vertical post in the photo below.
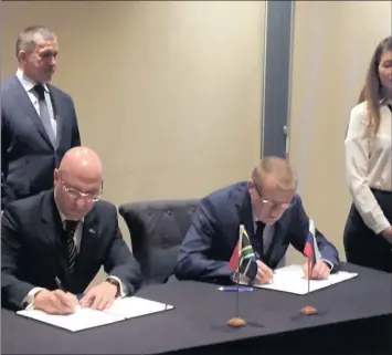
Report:
<svg viewBox="0 0 392 355"><path fill-rule="evenodd" d="M21 28L52 27L54 83L73 95L83 142L103 157L105 197L199 197L245 178L258 158L264 6L2 2L1 74L15 70ZM295 3L290 159L308 213L343 259L343 130L390 14L388 1Z"/></svg>

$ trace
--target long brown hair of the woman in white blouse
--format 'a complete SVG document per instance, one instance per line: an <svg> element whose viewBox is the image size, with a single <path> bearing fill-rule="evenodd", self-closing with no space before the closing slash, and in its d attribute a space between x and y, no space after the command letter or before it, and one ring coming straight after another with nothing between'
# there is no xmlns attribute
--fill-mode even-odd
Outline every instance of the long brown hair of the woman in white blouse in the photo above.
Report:
<svg viewBox="0 0 392 355"><path fill-rule="evenodd" d="M379 74L381 56L385 51L392 51L392 36L382 40L377 46L367 73L365 84L359 95L358 103L367 102L368 123L370 133L377 135L380 127L380 102L383 97L383 87Z"/></svg>

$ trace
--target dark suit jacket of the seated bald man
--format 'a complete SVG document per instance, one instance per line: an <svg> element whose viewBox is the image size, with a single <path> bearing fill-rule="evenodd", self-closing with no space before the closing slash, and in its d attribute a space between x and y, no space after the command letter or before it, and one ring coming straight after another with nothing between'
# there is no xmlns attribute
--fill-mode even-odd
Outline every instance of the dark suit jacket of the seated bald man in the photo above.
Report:
<svg viewBox="0 0 392 355"><path fill-rule="evenodd" d="M72 278L53 189L8 205L1 219L1 297L7 307L20 309L34 286L57 289L56 276L65 289L81 294L102 265L128 292L139 288L140 267L121 238L112 203L96 202L85 217Z"/></svg>

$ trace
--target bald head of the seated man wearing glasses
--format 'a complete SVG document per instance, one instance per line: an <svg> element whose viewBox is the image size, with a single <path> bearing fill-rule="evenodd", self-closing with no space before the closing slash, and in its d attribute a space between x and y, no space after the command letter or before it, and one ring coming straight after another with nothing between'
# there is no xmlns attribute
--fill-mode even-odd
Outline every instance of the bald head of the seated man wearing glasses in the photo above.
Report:
<svg viewBox="0 0 392 355"><path fill-rule="evenodd" d="M103 191L103 166L98 155L87 147L70 149L54 170L57 207L66 219L84 218Z"/></svg>

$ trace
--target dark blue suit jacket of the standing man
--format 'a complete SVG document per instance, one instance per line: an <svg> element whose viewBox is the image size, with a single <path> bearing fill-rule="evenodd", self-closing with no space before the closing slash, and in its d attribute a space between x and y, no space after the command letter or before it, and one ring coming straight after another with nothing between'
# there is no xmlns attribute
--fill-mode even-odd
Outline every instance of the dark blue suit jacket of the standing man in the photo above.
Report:
<svg viewBox="0 0 392 355"><path fill-rule="evenodd" d="M1 209L52 188L53 169L65 152L81 145L71 96L53 85L47 87L57 122L55 146L17 75L1 85Z"/></svg>

